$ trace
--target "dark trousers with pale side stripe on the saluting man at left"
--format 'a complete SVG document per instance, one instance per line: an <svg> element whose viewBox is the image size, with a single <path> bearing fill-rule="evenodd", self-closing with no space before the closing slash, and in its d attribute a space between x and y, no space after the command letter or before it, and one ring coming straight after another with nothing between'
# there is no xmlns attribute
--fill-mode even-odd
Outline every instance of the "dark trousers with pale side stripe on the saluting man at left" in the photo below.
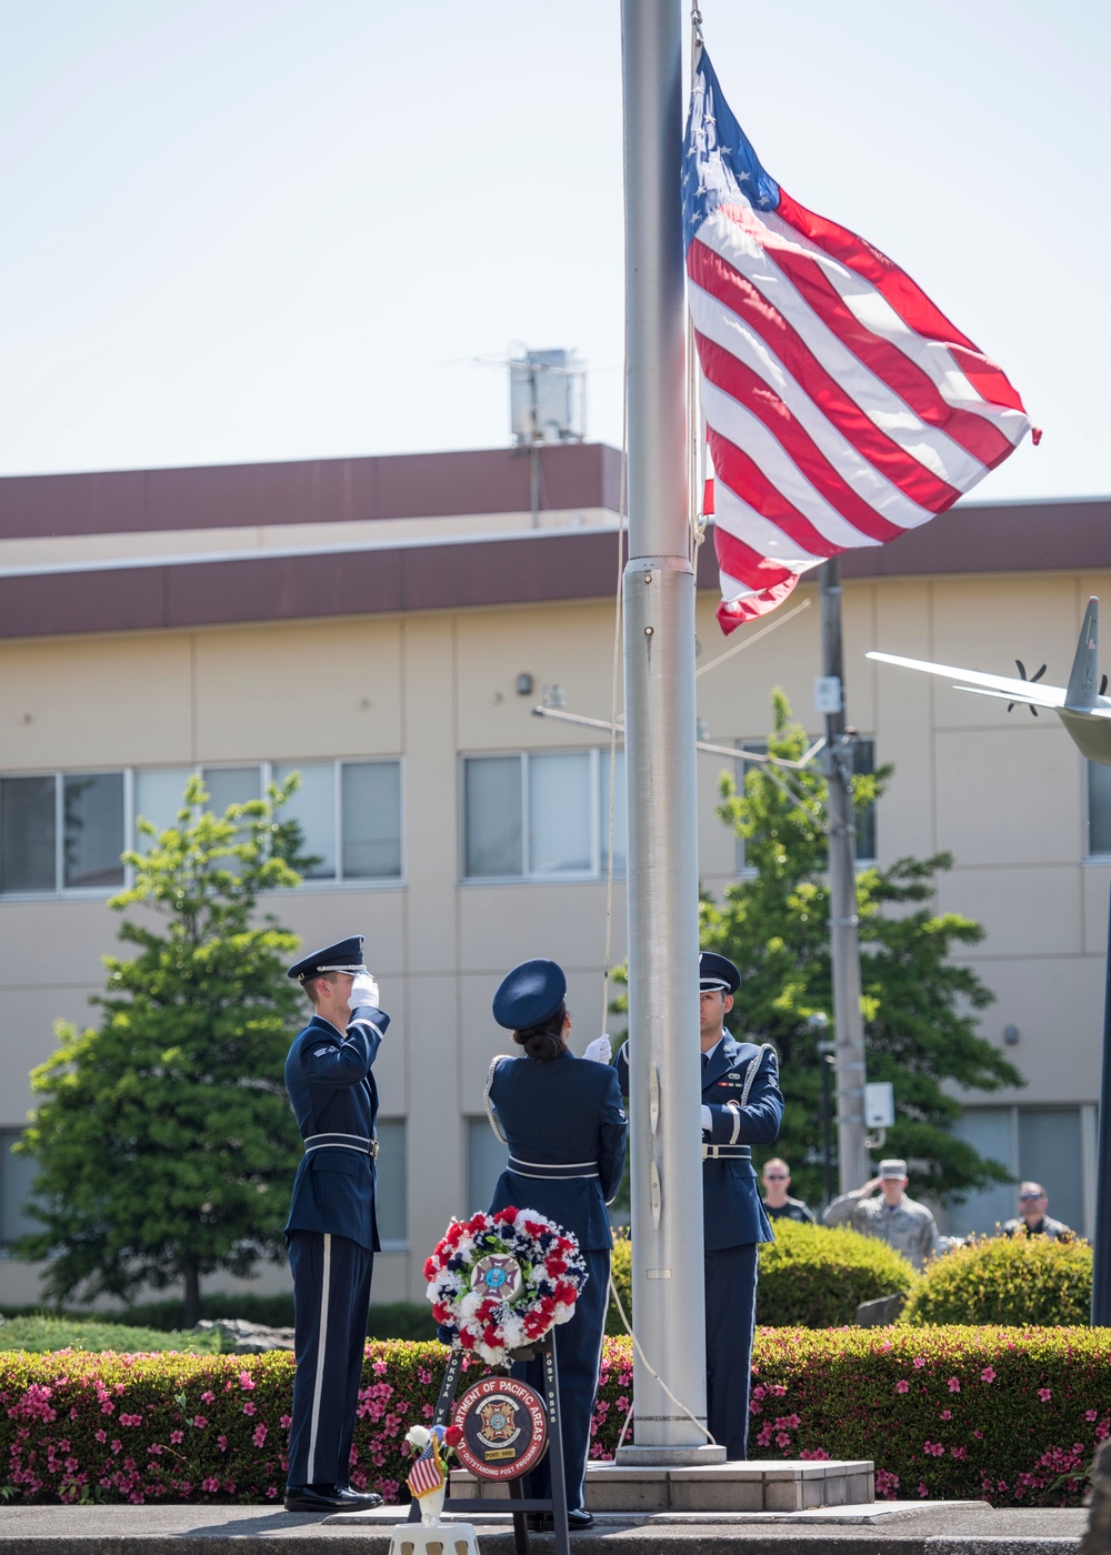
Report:
<svg viewBox="0 0 1111 1555"><path fill-rule="evenodd" d="M373 1253L347 1236L289 1232L294 1351L289 1485L345 1485L363 1378Z"/></svg>

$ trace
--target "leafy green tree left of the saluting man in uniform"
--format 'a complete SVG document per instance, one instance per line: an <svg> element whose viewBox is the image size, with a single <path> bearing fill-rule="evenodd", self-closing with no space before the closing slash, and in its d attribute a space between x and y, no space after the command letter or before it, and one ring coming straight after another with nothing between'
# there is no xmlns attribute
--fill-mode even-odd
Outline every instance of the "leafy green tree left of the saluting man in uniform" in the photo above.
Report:
<svg viewBox="0 0 1111 1555"><path fill-rule="evenodd" d="M58 1051L31 1071L42 1096L19 1146L37 1160L23 1258L53 1261L45 1289L128 1300L182 1281L185 1323L201 1280L246 1275L283 1253L299 1158L283 1087L302 998L283 975L294 935L257 899L299 883L300 832L282 821L296 787L205 810L191 778L177 824L124 854L134 885L112 897L129 959L106 956L96 1029L58 1022Z"/></svg>

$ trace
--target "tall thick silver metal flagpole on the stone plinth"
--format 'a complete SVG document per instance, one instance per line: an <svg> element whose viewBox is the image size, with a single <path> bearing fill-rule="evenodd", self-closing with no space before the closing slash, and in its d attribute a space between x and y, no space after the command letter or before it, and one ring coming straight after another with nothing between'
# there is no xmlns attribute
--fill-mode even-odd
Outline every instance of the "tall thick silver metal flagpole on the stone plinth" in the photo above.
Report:
<svg viewBox="0 0 1111 1555"><path fill-rule="evenodd" d="M629 560L629 1051L636 1446L705 1446L694 571L685 451L678 0L622 0ZM660 1379L675 1398L669 1398ZM675 1401L678 1400L678 1403ZM686 1406L683 1409L683 1406ZM688 1413L689 1410L689 1413ZM694 1417L694 1418L691 1418Z"/></svg>

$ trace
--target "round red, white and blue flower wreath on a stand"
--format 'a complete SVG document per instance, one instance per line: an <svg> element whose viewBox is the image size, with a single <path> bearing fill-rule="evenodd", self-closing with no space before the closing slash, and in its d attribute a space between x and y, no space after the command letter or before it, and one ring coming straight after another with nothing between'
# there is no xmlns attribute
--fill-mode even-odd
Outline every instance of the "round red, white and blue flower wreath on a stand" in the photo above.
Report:
<svg viewBox="0 0 1111 1555"><path fill-rule="evenodd" d="M566 1323L587 1283L574 1236L534 1210L453 1221L425 1263L440 1337L489 1365ZM447 1331L447 1333L445 1333Z"/></svg>

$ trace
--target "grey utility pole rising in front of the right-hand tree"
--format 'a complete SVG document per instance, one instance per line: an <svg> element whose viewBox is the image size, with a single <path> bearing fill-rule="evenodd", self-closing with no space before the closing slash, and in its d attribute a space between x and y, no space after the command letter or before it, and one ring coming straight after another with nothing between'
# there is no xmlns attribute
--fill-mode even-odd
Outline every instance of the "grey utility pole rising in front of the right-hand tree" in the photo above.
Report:
<svg viewBox="0 0 1111 1555"><path fill-rule="evenodd" d="M856 824L853 742L845 734L845 673L840 630L840 561L822 568L822 675L826 709L826 809L829 815L829 941L837 1075L837 1168L840 1191L871 1177L864 1116L864 1019L860 941L856 914Z"/></svg>

